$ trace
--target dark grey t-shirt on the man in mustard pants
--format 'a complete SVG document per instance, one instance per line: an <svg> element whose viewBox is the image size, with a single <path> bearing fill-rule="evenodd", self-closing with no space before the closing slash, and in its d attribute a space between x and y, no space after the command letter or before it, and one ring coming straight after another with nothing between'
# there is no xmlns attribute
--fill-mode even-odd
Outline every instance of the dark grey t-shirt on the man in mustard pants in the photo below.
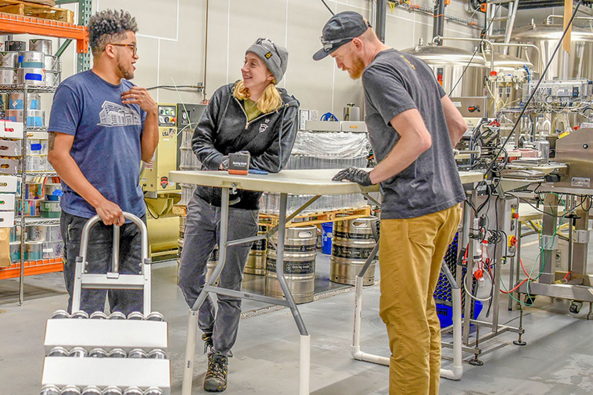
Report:
<svg viewBox="0 0 593 395"><path fill-rule="evenodd" d="M432 137L432 146L412 165L381 182L382 219L425 216L464 200L451 149L441 98L445 91L422 60L395 49L384 50L362 74L366 126L377 162L385 159L400 135L390 121L416 108Z"/></svg>

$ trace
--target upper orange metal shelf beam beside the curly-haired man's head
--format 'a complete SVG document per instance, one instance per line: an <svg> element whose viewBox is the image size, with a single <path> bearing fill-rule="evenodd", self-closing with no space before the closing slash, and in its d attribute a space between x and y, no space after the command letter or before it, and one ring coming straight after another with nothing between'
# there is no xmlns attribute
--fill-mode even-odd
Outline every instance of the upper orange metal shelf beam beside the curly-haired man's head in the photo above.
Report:
<svg viewBox="0 0 593 395"><path fill-rule="evenodd" d="M88 53L88 29L86 26L0 13L0 31L12 34L72 38L72 40L76 40L76 52Z"/></svg>

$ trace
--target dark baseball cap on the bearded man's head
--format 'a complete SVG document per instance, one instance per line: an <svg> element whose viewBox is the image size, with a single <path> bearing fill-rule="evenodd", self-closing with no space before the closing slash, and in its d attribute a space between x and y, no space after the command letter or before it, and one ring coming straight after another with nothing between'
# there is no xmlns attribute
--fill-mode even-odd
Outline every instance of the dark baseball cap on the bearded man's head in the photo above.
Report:
<svg viewBox="0 0 593 395"><path fill-rule="evenodd" d="M371 27L361 14L354 11L342 11L327 21L319 37L323 48L315 52L313 60L321 60L339 47L352 41L353 38L365 33Z"/></svg>

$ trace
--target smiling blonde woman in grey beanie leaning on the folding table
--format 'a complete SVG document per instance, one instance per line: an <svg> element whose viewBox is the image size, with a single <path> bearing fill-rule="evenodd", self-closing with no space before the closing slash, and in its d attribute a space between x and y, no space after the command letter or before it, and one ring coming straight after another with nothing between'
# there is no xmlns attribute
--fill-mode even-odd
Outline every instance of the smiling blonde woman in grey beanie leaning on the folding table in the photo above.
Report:
<svg viewBox="0 0 593 395"><path fill-rule="evenodd" d="M192 149L202 170L226 170L228 155L247 151L250 168L279 172L288 162L297 136L299 102L277 88L286 71L288 52L267 38L258 38L245 53L243 79L216 89L193 134ZM228 240L257 234L262 192L238 190L231 195ZM187 204L179 287L193 307L205 283L206 261L219 239L221 190L197 187ZM250 245L231 246L219 287L241 289ZM206 298L199 327L208 352L206 391L227 388L228 357L237 339L241 299L218 295L218 310Z"/></svg>

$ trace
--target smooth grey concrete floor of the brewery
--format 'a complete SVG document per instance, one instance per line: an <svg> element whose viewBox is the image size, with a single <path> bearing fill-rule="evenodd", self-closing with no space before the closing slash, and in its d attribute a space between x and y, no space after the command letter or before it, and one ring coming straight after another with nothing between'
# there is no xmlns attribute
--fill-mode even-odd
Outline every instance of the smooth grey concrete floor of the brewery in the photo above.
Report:
<svg viewBox="0 0 593 395"><path fill-rule="evenodd" d="M529 240L524 240L527 245ZM525 246L525 265L533 264L537 246ZM321 254L319 254L321 255ZM531 256L531 262L528 257ZM591 255L591 252L589 253ZM327 256L318 258L317 288L329 285ZM504 275L504 278L507 275ZM153 268L153 310L164 313L169 323L172 394L180 394L186 338L187 307L176 287L174 262ZM18 280L0 281L0 395L39 393L43 364L43 333L47 318L63 309L66 294L61 273L25 279L25 303L18 306ZM249 287L261 287L261 278L247 279ZM388 356L384 324L378 317L379 287L364 291L362 348ZM518 325L518 311L508 311L507 298L500 301L501 322ZM354 361L352 337L353 293L323 298L299 306L311 333L311 393L315 395L378 395L388 393L388 368ZM243 310L263 307L244 303ZM568 312L569 302L538 297L524 314L526 346L512 345L517 335L505 333L490 341L501 348L480 359L482 367L464 364L460 381L441 379L441 395L563 395L593 394L593 322L586 320L588 306L579 314ZM298 332L289 310L273 311L241 320L235 357L229 361L226 394L295 394L298 388ZM486 346L488 343L485 344ZM206 356L196 347L195 394L202 390ZM451 351L443 351L448 368ZM473 357L464 354L464 359Z"/></svg>

